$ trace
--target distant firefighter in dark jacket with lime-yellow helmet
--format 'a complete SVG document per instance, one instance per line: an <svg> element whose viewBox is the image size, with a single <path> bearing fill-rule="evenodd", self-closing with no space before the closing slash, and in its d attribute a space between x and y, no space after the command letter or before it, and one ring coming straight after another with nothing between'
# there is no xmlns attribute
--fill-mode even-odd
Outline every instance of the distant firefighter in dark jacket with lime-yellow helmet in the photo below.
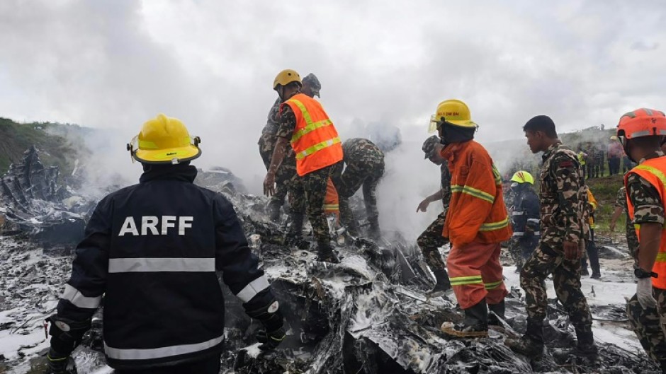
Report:
<svg viewBox="0 0 666 374"><path fill-rule="evenodd" d="M516 262L516 273L520 273L523 264L530 257L538 244L539 203L532 186L534 177L524 170L514 173L511 178L511 190L514 205L511 213L511 226L514 234L509 245L509 253Z"/></svg>

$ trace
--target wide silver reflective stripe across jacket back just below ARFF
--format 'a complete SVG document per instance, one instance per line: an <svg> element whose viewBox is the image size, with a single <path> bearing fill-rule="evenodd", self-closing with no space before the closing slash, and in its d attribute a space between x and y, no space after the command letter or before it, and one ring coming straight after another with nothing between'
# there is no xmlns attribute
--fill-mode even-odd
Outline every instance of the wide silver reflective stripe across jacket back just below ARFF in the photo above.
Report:
<svg viewBox="0 0 666 374"><path fill-rule="evenodd" d="M214 258L125 258L109 259L109 273L153 271L215 271Z"/></svg>

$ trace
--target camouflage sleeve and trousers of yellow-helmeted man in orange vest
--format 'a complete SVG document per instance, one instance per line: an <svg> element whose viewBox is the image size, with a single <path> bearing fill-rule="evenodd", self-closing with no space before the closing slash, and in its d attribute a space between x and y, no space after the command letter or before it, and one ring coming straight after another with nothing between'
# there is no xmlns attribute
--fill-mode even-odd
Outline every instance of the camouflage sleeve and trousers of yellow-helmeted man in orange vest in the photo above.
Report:
<svg viewBox="0 0 666 374"><path fill-rule="evenodd" d="M276 136L291 139L295 128L296 117L291 108L285 105L282 110ZM342 163L342 161L340 162ZM331 238L326 216L324 215L324 199L326 198L328 179L331 177L333 169L336 166L327 166L312 173L307 173L302 177L295 175L289 183L289 194L291 195L291 228L293 230L300 230L303 227L303 216L307 211L307 216L310 218L310 224L312 225L312 232L317 242L328 243ZM300 235L298 232L292 232L291 234Z"/></svg>

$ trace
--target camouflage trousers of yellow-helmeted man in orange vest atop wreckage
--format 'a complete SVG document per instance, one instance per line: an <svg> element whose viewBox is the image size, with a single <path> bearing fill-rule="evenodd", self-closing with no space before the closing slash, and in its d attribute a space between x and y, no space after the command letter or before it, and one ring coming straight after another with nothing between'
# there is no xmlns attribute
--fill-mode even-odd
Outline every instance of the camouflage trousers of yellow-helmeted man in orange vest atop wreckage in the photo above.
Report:
<svg viewBox="0 0 666 374"><path fill-rule="evenodd" d="M307 218L310 219L312 233L317 242L331 240L328 222L324 215L324 199L332 171L333 165L307 173L303 177L297 175L289 184L291 214L303 215L307 210Z"/></svg>

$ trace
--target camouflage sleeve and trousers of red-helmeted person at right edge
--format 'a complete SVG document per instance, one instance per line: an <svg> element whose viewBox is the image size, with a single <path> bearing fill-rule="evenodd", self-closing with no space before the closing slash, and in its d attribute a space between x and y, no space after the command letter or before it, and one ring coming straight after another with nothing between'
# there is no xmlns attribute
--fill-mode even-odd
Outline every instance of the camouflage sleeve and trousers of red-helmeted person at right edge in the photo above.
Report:
<svg viewBox="0 0 666 374"><path fill-rule="evenodd" d="M657 152L655 156L664 156ZM653 157L655 157L653 156ZM650 183L636 174L627 177L628 198L634 206L633 223L660 223L664 224L666 214L664 204L659 197L659 192ZM618 196L619 197L619 196ZM624 199L626 206L626 199ZM629 228L629 227L627 227ZM633 229L633 227L632 227ZM638 256L638 238L636 230L633 230L633 238L636 238L636 247L633 250L634 259ZM627 236L627 241L629 237ZM631 250L631 244L629 244ZM662 328L666 321L666 290L653 288L653 294L657 300L656 308L644 309L633 296L627 303L627 317L636 332L640 345L643 346L655 361L666 361L666 336Z"/></svg>

